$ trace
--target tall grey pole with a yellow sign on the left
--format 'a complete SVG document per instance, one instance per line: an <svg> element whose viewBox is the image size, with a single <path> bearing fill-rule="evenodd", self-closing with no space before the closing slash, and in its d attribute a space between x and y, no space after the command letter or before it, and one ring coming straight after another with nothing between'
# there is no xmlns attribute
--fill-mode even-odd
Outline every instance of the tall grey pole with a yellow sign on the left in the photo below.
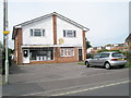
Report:
<svg viewBox="0 0 131 98"><path fill-rule="evenodd" d="M8 0L3 0L3 45L5 57L5 84L9 83L9 60L8 60Z"/></svg>

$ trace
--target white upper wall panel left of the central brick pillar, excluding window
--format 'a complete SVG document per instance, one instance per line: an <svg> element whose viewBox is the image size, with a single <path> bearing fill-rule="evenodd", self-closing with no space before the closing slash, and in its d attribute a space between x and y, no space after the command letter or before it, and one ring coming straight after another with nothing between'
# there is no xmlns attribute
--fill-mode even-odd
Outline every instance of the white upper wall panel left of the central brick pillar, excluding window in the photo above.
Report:
<svg viewBox="0 0 131 98"><path fill-rule="evenodd" d="M33 37L29 35L31 28L43 28L44 37ZM53 45L52 17L48 17L26 26L23 26L23 45Z"/></svg>

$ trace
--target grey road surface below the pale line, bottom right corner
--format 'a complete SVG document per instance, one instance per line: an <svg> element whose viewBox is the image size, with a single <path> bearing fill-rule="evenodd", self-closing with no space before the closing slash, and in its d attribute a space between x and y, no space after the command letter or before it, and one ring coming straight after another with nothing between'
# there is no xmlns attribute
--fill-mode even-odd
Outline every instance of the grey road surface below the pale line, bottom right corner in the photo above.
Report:
<svg viewBox="0 0 131 98"><path fill-rule="evenodd" d="M99 87L99 86L98 86ZM76 91L72 91L69 95L63 96L129 96L129 83L108 86L108 87L99 87L94 89L82 89Z"/></svg>

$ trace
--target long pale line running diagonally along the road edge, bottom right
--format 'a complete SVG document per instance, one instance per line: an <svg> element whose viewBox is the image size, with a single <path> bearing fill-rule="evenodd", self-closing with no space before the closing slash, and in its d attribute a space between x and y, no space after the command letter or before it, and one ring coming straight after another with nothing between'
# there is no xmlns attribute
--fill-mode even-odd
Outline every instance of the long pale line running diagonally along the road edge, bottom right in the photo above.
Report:
<svg viewBox="0 0 131 98"><path fill-rule="evenodd" d="M96 87L91 87L91 88L82 89L82 90L61 93L61 94L56 94L56 95L51 95L51 96L63 96L63 95L76 94L76 93L82 93L82 91L87 91L87 90L93 90L93 89L98 89L98 88L104 88L104 87L109 87L109 86L126 84L126 83L129 83L129 82L131 82L131 81L124 81L124 82L120 82L120 83L112 83L112 84L102 85L102 86L96 86Z"/></svg>

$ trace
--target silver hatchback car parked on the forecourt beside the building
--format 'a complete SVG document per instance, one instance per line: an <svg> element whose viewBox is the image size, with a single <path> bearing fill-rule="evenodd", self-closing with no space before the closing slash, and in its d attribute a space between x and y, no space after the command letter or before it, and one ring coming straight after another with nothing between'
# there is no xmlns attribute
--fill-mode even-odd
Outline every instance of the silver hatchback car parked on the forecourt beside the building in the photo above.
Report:
<svg viewBox="0 0 131 98"><path fill-rule="evenodd" d="M107 70L109 70L111 66L124 68L126 63L126 57L122 53L116 51L100 52L85 60L85 65L87 68L92 65L98 65L105 66Z"/></svg>

